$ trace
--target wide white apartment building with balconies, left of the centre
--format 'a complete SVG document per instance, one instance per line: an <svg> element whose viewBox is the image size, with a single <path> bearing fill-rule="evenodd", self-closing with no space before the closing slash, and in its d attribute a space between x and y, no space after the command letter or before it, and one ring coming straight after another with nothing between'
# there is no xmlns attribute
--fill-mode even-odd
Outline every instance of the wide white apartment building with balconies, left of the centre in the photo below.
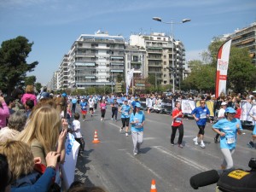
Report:
<svg viewBox="0 0 256 192"><path fill-rule="evenodd" d="M125 39L121 36L82 34L67 55L70 88L113 85L124 79Z"/></svg>

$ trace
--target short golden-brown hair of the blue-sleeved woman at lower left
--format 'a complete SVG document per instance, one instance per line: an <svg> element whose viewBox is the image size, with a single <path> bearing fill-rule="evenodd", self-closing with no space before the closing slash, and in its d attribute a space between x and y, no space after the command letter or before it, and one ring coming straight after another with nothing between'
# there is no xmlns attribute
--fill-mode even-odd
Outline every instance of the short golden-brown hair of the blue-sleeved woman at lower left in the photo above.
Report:
<svg viewBox="0 0 256 192"><path fill-rule="evenodd" d="M0 154L7 156L14 180L33 171L34 158L30 147L23 142L9 140L0 143Z"/></svg>

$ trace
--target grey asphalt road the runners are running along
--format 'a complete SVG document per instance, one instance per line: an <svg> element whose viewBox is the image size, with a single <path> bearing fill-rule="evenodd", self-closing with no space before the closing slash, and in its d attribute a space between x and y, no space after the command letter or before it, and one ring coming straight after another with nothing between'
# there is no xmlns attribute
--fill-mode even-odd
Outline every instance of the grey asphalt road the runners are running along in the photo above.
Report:
<svg viewBox="0 0 256 192"><path fill-rule="evenodd" d="M85 151L78 159L75 179L88 186L102 186L108 192L148 192L152 179L158 192L215 191L216 184L198 190L189 184L190 177L219 169L223 160L219 144L213 142L212 125L207 124L206 148L201 148L192 141L198 132L195 121L183 119L184 147L178 148L170 143L172 117L147 112L145 115L142 153L136 156L132 153L131 135L125 137L125 132L119 132L120 114L117 122L111 120L110 107L105 121L101 121L99 109L93 117L87 115L84 122L80 119ZM91 143L96 130L101 143ZM256 157L256 149L247 148L252 131L243 132L238 137L233 160L237 168L249 170L247 164L250 158Z"/></svg>

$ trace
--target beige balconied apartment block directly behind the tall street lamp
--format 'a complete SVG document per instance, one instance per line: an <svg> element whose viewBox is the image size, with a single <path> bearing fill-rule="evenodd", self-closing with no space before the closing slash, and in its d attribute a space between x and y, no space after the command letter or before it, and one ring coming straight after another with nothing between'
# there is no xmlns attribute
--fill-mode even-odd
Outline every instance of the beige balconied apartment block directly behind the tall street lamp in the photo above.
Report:
<svg viewBox="0 0 256 192"><path fill-rule="evenodd" d="M183 74L177 75L183 73L185 49L182 42L165 33L153 32L150 35L131 35L130 44L146 49L145 71L155 77L156 84L172 84L176 77L183 77Z"/></svg>

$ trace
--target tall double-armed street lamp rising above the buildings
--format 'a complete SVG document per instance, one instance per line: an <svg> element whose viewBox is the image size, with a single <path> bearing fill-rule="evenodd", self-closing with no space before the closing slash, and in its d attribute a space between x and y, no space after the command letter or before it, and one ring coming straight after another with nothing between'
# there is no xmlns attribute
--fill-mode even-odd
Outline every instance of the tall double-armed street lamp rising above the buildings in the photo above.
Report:
<svg viewBox="0 0 256 192"><path fill-rule="evenodd" d="M173 59L173 47L174 47L174 37L173 37L173 30L172 30L172 25L173 24L183 24L186 22L189 22L190 19L183 19L181 22L174 22L173 20L171 20L170 22L165 22L163 21L160 17L153 17L153 20L156 21L160 21L161 23L165 23L165 24L171 24L171 38L172 38L172 69L173 69L173 73L172 73L172 93L175 92L175 79L174 79L174 59ZM170 68L168 68L170 70Z"/></svg>

